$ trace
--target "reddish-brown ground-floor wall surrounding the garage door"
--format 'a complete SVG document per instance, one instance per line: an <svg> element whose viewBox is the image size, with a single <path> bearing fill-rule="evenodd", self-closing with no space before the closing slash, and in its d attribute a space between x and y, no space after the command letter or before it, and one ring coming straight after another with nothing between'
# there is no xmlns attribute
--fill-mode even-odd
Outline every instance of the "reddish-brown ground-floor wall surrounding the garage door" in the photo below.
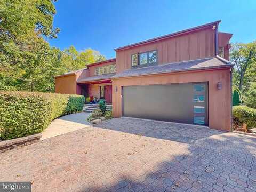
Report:
<svg viewBox="0 0 256 192"><path fill-rule="evenodd" d="M186 73L169 73L150 76L113 79L113 115L122 116L122 86L155 85L171 83L209 83L209 127L212 129L231 129L231 93L230 67L225 69L189 71ZM222 89L217 89L217 83L222 83ZM117 92L115 89L117 87ZM146 95L145 95L146 97Z"/></svg>

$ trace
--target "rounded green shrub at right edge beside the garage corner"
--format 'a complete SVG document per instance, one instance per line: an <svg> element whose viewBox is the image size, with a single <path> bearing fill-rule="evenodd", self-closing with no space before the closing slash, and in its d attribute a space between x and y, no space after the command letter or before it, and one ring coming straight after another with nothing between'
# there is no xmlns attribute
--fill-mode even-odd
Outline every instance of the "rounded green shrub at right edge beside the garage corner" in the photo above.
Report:
<svg viewBox="0 0 256 192"><path fill-rule="evenodd" d="M233 123L239 126L246 123L248 127L256 127L256 109L246 106L233 107Z"/></svg>

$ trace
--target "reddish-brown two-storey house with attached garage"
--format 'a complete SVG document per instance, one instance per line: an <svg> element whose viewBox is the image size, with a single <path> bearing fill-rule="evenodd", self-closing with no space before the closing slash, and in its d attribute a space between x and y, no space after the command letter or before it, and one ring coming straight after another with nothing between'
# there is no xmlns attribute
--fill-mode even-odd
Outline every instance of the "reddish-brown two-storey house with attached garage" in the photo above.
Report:
<svg viewBox="0 0 256 192"><path fill-rule="evenodd" d="M219 23L119 47L115 59L55 77L55 92L105 98L115 117L230 131L232 34Z"/></svg>

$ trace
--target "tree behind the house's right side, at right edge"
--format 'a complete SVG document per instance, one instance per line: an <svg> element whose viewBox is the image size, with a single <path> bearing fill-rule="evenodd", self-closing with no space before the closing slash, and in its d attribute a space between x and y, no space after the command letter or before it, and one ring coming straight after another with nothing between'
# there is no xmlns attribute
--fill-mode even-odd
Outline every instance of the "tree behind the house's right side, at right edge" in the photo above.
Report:
<svg viewBox="0 0 256 192"><path fill-rule="evenodd" d="M250 83L250 73L253 73L256 62L256 42L236 43L231 46L230 61L235 64L234 85L243 93ZM254 66L254 67L253 67Z"/></svg>

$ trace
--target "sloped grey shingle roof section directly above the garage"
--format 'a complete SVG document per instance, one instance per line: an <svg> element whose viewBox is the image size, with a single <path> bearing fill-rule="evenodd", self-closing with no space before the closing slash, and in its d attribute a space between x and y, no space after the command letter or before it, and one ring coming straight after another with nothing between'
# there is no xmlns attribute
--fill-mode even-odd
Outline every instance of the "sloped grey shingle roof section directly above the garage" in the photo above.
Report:
<svg viewBox="0 0 256 192"><path fill-rule="evenodd" d="M168 63L165 65L157 65L157 66L143 67L143 68L137 68L137 69L127 69L127 70L124 70L122 73L117 74L111 78L163 74L163 73L171 73L171 72L179 72L179 71L221 68L221 67L228 67L228 66L233 66L233 64L231 64L231 62L219 56L216 56L212 58Z"/></svg>

